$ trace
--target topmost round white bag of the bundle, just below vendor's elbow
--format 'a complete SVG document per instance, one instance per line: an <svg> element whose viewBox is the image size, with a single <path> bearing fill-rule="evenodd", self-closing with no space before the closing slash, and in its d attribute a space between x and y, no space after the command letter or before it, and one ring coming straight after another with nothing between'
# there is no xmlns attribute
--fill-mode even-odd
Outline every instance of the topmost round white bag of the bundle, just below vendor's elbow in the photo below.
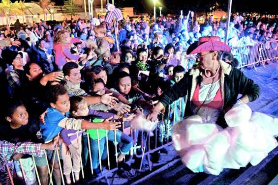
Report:
<svg viewBox="0 0 278 185"><path fill-rule="evenodd" d="M229 127L236 127L247 123L252 115L252 110L246 104L234 105L226 114L225 120Z"/></svg>

